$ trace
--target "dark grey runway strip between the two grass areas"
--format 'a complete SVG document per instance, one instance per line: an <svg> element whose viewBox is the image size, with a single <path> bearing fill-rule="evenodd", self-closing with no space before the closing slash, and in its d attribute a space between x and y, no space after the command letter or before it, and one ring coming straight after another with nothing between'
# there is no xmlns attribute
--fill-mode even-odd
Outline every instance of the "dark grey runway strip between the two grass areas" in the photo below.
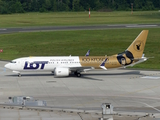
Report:
<svg viewBox="0 0 160 120"><path fill-rule="evenodd" d="M19 27L0 28L0 34L15 32L35 32L35 31L66 31L66 30L99 30L99 29L122 29L122 28L159 28L160 24L111 24L111 25L91 25L91 26L44 26L44 27Z"/></svg>

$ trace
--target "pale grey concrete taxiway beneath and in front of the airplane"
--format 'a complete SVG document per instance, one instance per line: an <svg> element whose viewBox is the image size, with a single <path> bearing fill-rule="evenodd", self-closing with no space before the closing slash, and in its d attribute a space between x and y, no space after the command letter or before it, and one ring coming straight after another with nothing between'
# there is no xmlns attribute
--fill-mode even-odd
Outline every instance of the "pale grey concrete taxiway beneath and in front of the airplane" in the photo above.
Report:
<svg viewBox="0 0 160 120"><path fill-rule="evenodd" d="M112 103L118 112L153 113L159 116L160 71L91 71L83 73L80 78L73 75L55 78L51 73L41 72L22 73L22 77L18 77L5 69L5 64L4 61L0 62L1 104L9 96L32 96L46 101L47 106L59 109L100 112L102 103ZM54 116L51 118L54 119ZM62 119L61 116L58 119Z"/></svg>

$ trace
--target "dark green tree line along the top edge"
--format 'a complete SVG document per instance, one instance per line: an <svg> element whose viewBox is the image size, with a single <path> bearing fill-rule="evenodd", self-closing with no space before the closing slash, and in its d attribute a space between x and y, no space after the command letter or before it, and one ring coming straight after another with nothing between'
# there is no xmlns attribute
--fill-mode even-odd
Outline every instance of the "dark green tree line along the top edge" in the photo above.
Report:
<svg viewBox="0 0 160 120"><path fill-rule="evenodd" d="M160 0L0 0L0 14L48 11L159 10Z"/></svg>

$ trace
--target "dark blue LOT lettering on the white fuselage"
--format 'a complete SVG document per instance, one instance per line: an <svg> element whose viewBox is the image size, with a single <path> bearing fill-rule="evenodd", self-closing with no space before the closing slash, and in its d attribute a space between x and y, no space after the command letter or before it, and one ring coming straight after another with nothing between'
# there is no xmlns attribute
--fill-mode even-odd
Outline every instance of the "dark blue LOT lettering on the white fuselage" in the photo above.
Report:
<svg viewBox="0 0 160 120"><path fill-rule="evenodd" d="M25 62L24 68L27 70L36 70L36 69L44 69L45 64L48 64L48 61L34 61L34 62Z"/></svg>

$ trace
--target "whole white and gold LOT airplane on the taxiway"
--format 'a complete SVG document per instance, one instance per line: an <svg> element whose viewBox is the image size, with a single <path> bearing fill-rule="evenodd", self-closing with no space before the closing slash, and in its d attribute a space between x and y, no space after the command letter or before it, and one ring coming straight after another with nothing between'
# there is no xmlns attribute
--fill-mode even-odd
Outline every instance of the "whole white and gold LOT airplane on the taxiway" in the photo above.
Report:
<svg viewBox="0 0 160 120"><path fill-rule="evenodd" d="M94 69L125 68L146 61L143 51L148 30L142 30L131 45L122 53L112 56L37 56L22 57L12 60L5 68L21 76L21 72L50 71L55 77L65 77L74 73L77 77L81 72Z"/></svg>

